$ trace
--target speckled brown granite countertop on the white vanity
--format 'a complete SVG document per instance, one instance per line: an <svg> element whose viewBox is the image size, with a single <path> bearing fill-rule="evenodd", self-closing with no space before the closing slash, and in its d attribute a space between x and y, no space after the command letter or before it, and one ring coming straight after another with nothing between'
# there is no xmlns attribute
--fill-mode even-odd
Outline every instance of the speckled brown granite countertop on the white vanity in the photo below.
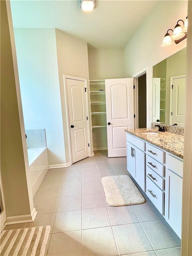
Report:
<svg viewBox="0 0 192 256"><path fill-rule="evenodd" d="M157 130L158 128L140 128L125 131L183 159L184 136L171 132L158 132ZM147 134L150 132L157 134Z"/></svg>

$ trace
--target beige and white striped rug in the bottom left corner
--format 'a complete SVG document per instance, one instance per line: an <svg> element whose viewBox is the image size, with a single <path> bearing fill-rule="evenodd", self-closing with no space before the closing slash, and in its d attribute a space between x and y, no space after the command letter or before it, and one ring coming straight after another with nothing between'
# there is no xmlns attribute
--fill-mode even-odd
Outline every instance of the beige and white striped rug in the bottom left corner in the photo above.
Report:
<svg viewBox="0 0 192 256"><path fill-rule="evenodd" d="M3 230L1 256L44 256L50 226Z"/></svg>

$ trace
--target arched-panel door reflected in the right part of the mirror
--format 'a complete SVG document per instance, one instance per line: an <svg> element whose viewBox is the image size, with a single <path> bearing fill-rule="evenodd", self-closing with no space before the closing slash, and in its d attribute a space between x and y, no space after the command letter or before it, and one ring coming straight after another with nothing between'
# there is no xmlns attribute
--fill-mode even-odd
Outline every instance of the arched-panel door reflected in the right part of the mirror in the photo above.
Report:
<svg viewBox="0 0 192 256"><path fill-rule="evenodd" d="M184 127L185 121L185 77L173 79L172 109L170 125Z"/></svg>

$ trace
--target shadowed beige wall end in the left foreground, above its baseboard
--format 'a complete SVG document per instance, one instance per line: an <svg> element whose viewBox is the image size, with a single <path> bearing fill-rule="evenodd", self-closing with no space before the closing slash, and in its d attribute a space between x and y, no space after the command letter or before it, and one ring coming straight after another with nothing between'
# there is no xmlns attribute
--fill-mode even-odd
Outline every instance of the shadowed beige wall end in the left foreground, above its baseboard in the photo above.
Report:
<svg viewBox="0 0 192 256"><path fill-rule="evenodd" d="M1 178L7 217L31 213L6 2L1 5ZM11 26L12 24L10 24ZM13 31L11 31L13 32ZM15 52L13 52L15 54ZM19 102L20 103L20 102ZM24 132L24 130L23 130ZM26 143L25 143L26 150Z"/></svg>

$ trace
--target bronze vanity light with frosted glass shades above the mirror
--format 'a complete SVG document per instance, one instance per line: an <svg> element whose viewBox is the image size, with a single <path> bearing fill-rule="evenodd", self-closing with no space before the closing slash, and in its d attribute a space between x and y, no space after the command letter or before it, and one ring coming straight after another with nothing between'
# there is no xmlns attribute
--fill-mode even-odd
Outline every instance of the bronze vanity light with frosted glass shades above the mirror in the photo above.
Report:
<svg viewBox="0 0 192 256"><path fill-rule="evenodd" d="M181 25L179 24L180 21L183 22L183 29L182 29ZM177 21L177 24L175 25L174 30L168 29L167 33L164 36L163 43L161 44L161 47L168 47L168 46L172 45L173 42L178 44L181 41L183 41L185 38L187 38L187 23L188 23L188 21L187 21L187 17L186 17L185 22L183 20ZM172 36L170 36L170 34L168 33L169 30L171 30L173 32Z"/></svg>

